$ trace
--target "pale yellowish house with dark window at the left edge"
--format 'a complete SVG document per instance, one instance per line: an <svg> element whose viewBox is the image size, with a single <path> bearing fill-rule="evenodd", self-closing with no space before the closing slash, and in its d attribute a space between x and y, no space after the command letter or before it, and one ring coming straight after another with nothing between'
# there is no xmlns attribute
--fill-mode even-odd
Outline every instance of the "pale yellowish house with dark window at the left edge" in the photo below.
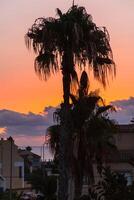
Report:
<svg viewBox="0 0 134 200"><path fill-rule="evenodd" d="M14 140L0 140L0 190L24 188L24 160Z"/></svg>

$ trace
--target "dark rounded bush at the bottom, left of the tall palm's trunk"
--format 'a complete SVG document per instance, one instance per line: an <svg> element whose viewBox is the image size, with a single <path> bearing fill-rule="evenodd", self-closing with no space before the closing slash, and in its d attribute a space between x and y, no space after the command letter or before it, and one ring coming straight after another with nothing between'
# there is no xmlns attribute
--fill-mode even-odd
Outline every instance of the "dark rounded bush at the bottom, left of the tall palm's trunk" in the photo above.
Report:
<svg viewBox="0 0 134 200"><path fill-rule="evenodd" d="M48 176L42 169L34 170L30 176L29 183L38 192L45 196L45 200L55 200L57 191L57 180L55 176Z"/></svg>

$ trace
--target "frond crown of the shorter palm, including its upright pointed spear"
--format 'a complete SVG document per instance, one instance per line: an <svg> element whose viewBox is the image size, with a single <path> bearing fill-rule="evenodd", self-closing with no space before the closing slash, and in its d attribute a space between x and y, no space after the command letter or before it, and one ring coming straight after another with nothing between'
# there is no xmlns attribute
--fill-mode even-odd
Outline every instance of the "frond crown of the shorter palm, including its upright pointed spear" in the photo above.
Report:
<svg viewBox="0 0 134 200"><path fill-rule="evenodd" d="M84 148L82 157L84 157L84 154L90 152L96 160L98 157L102 158L104 154L110 152L110 149L115 148L110 141L113 133L116 132L115 123L108 117L108 112L114 110L114 107L111 105L105 106L103 99L96 91L88 94L88 77L85 71L81 75L78 96L70 94L70 97L72 99L72 104L70 104L72 121L70 126L72 127L70 129L70 142L73 142L73 149L70 148L72 151L70 153L75 152L74 157L76 158L78 157L76 155L78 151L82 152L82 148ZM50 126L47 133L50 136L49 143L51 151L56 158L59 151L61 109L57 109L55 115L57 116L55 118L59 124Z"/></svg>

